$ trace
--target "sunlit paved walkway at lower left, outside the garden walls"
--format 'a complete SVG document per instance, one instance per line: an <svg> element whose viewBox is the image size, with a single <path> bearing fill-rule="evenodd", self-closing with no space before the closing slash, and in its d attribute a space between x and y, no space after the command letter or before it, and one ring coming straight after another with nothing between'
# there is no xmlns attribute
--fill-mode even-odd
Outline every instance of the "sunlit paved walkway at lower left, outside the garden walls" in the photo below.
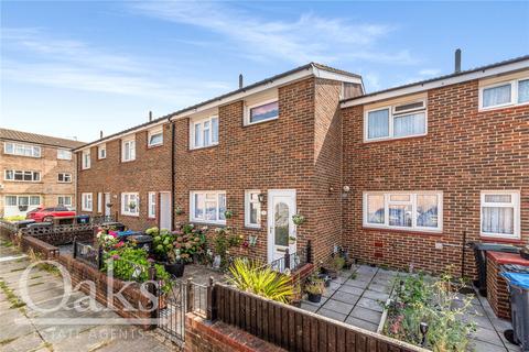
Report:
<svg viewBox="0 0 529 352"><path fill-rule="evenodd" d="M9 258L9 260L8 260ZM30 261L0 239L0 351L175 351L161 336L132 326L69 324L73 318L114 319L117 314L97 304L100 311L78 311L74 304L87 298L74 292L65 308L41 312L22 299L21 275ZM23 282L39 308L55 307L62 299L63 282L56 273L34 268ZM66 324L42 324L42 318L65 318Z"/></svg>

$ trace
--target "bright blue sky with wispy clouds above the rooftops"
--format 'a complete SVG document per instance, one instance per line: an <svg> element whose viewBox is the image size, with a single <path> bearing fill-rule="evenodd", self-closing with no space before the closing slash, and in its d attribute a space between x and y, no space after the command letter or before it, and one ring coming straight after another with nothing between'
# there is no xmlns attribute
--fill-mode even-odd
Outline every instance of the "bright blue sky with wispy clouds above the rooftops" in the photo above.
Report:
<svg viewBox="0 0 529 352"><path fill-rule="evenodd" d="M529 2L1 1L0 119L82 141L320 62L368 91L529 53Z"/></svg>

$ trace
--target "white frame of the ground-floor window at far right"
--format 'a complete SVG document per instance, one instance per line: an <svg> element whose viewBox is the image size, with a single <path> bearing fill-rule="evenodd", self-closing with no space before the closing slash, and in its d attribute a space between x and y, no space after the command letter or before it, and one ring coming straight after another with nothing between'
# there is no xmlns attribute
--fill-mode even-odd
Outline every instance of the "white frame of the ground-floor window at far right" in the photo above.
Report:
<svg viewBox="0 0 529 352"><path fill-rule="evenodd" d="M500 202L486 202L485 196L487 195L509 195L510 196L510 204L500 204ZM506 234L506 233L492 233L492 232L484 232L483 231L483 208L485 207L505 207L505 208L514 208L512 216L514 216L514 233ZM494 239L506 239L506 240L519 240L520 237L520 191L519 190L482 190L479 197L479 234L484 238L494 238Z"/></svg>

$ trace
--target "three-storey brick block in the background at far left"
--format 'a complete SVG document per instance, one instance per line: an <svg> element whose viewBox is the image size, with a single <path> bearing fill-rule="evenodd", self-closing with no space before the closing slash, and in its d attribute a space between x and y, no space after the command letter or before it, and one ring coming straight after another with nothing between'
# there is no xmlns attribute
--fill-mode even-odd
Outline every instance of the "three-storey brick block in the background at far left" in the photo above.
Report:
<svg viewBox="0 0 529 352"><path fill-rule="evenodd" d="M75 207L75 154L84 145L66 139L0 129L0 217L37 207Z"/></svg>

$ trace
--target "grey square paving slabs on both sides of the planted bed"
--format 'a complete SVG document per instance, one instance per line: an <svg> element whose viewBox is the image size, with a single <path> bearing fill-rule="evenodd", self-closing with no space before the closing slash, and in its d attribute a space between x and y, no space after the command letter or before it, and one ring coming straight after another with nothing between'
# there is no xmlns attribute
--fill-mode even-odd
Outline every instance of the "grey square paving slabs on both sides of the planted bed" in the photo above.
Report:
<svg viewBox="0 0 529 352"><path fill-rule="evenodd" d="M406 274L378 267L358 265L342 271L331 287L326 288L319 304L303 300L301 308L331 319L344 321L369 331L377 331L397 275ZM471 337L471 348L479 352L521 351L504 338L504 331L511 329L507 320L497 318L486 298L475 297L467 317L474 321L477 331Z"/></svg>

